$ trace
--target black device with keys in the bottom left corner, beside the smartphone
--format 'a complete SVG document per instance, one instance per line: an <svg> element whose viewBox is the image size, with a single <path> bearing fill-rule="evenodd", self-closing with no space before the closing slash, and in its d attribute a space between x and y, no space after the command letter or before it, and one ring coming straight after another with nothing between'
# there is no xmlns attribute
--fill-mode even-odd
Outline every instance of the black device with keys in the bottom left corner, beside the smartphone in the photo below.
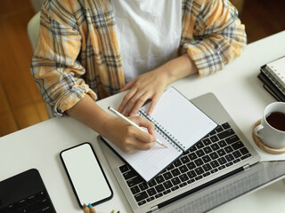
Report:
<svg viewBox="0 0 285 213"><path fill-rule="evenodd" d="M0 182L0 212L56 212L38 170L26 170Z"/></svg>

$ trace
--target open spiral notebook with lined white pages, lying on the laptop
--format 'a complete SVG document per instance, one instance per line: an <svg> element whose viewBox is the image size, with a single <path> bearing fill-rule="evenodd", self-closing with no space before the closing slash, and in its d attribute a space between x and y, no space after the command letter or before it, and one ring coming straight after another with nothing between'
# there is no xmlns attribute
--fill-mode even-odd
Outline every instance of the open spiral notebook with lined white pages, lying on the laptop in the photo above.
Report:
<svg viewBox="0 0 285 213"><path fill-rule="evenodd" d="M142 106L142 115L155 124L156 137L167 148L155 144L148 151L124 153L108 139L103 140L118 156L128 163L146 182L174 162L183 152L204 138L217 126L216 122L194 106L190 100L171 87L165 91L151 115L147 114L151 103Z"/></svg>

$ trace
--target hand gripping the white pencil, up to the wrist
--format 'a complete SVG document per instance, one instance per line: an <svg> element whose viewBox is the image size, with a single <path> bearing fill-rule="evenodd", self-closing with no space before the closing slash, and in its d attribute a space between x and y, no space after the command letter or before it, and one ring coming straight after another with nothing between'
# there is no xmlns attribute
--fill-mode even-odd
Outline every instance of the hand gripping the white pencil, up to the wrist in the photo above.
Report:
<svg viewBox="0 0 285 213"><path fill-rule="evenodd" d="M116 146L126 153L139 150L149 150L154 146L156 138L154 135L154 124L142 116L128 117L132 122L148 130L138 130L119 117L112 116L105 122L104 138L110 139Z"/></svg>

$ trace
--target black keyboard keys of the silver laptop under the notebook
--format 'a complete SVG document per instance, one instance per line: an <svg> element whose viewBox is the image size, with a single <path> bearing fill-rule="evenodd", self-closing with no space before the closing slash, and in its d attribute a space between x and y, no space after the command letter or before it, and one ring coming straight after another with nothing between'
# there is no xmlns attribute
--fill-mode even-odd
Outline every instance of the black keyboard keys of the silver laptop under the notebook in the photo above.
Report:
<svg viewBox="0 0 285 213"><path fill-rule="evenodd" d="M210 177L219 170L250 157L248 149L225 122L208 136L170 164L148 184L126 164L119 167L135 201L139 206L158 199L168 193L191 185L202 178Z"/></svg>

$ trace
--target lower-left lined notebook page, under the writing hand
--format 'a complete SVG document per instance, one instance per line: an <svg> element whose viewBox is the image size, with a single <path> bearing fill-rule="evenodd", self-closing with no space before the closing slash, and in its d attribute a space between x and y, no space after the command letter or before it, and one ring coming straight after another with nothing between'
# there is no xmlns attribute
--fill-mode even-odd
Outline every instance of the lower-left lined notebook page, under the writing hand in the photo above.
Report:
<svg viewBox="0 0 285 213"><path fill-rule="evenodd" d="M155 143L150 150L125 153L120 150L118 146L111 143L110 140L104 139L118 155L120 155L145 181L148 182L182 154L182 150L171 143L166 137L159 134L159 130L155 130L155 135L156 138L167 146L167 148Z"/></svg>

